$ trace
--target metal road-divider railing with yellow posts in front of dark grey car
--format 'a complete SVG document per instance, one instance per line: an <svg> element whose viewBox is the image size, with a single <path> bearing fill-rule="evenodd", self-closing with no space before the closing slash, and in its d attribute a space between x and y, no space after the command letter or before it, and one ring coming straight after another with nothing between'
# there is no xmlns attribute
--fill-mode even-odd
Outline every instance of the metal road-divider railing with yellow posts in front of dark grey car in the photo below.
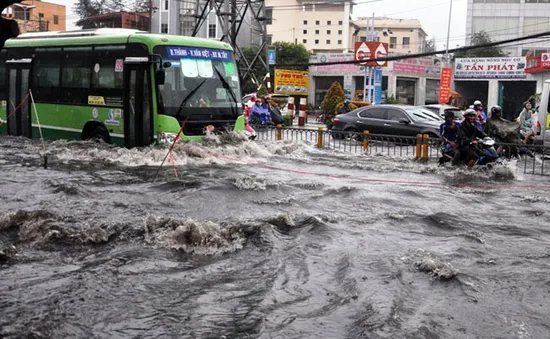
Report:
<svg viewBox="0 0 550 339"><path fill-rule="evenodd" d="M356 154L408 158L421 162L437 161L441 156L441 139L418 134L416 137L371 134L369 131L342 132L324 127L317 130L277 126L253 126L256 140L291 140L315 143L318 148ZM525 144L499 144L505 159L517 159L525 174L550 175L550 147Z"/></svg>

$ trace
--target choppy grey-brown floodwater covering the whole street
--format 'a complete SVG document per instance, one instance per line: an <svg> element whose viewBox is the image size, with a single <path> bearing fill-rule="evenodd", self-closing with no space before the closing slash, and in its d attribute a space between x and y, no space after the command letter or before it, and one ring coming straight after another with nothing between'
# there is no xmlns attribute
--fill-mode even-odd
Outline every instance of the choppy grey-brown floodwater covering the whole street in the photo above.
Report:
<svg viewBox="0 0 550 339"><path fill-rule="evenodd" d="M235 139L0 138L0 337L550 336L543 177Z"/></svg>

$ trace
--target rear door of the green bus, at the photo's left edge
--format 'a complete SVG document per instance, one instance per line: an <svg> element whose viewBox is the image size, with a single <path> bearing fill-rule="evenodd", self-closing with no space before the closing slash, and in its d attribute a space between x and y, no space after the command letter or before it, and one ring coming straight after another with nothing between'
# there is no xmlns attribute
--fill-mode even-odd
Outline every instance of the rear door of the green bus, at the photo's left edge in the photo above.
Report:
<svg viewBox="0 0 550 339"><path fill-rule="evenodd" d="M32 59L7 60L8 101L6 106L8 134L32 138L31 97L29 82Z"/></svg>

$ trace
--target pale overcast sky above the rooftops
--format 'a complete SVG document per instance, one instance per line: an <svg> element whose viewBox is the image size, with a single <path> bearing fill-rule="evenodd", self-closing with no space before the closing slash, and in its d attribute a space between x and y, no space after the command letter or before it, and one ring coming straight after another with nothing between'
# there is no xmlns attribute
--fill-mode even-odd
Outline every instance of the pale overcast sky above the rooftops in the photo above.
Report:
<svg viewBox="0 0 550 339"><path fill-rule="evenodd" d="M72 11L76 0L46 0L67 6L67 30L77 28L74 23L78 16ZM355 0L359 5L354 10L356 16L386 16L398 19L418 19L429 38L435 38L437 49L443 49L447 39L450 0ZM451 18L450 48L464 45L466 35L467 0L453 0Z"/></svg>

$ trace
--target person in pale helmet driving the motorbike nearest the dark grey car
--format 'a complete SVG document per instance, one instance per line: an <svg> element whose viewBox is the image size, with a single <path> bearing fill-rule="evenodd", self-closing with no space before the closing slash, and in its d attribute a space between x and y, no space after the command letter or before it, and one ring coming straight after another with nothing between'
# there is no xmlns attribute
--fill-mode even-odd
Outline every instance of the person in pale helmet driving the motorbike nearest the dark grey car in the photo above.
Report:
<svg viewBox="0 0 550 339"><path fill-rule="evenodd" d="M453 158L453 165L458 165L461 160L466 160L468 168L472 168L478 155L473 145L476 145L477 138L485 138L487 135L476 125L477 112L473 109L467 109L464 112L464 121L458 127L456 135L457 152Z"/></svg>

